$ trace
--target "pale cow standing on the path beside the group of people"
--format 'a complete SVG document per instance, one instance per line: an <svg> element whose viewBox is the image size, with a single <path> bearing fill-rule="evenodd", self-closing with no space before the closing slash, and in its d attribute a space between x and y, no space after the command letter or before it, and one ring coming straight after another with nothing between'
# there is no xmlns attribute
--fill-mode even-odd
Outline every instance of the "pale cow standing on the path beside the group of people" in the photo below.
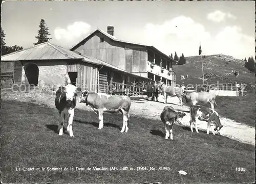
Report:
<svg viewBox="0 0 256 184"><path fill-rule="evenodd" d="M184 93L185 86L182 86L182 87L167 86L163 82L157 82L157 84L158 84L158 88L163 91L164 103L167 103L168 96L177 96L180 100L180 106L183 106L182 94Z"/></svg>

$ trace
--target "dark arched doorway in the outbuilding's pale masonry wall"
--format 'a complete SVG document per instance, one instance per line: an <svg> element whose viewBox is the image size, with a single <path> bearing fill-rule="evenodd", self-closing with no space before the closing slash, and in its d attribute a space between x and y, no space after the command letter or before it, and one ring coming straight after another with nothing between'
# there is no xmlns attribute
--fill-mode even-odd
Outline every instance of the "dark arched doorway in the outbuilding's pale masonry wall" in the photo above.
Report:
<svg viewBox="0 0 256 184"><path fill-rule="evenodd" d="M36 64L28 64L25 69L25 74L28 78L28 82L30 85L38 85L38 74L39 69Z"/></svg>

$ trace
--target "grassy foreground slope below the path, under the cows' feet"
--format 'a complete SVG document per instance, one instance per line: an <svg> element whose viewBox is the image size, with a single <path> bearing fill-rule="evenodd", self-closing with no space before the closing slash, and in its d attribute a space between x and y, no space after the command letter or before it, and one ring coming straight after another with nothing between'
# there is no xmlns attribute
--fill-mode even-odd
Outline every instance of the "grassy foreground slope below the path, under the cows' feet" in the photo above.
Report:
<svg viewBox="0 0 256 184"><path fill-rule="evenodd" d="M218 102L218 101L217 101ZM164 139L161 121L132 116L120 133L121 114L104 114L104 127L91 111L75 110L74 138L58 136L57 110L31 102L1 100L2 182L199 183L253 182L254 149L221 136L191 133L174 125L174 140ZM137 171L144 166L155 171ZM169 171L158 170L169 167ZM23 167L90 167L92 171L16 171ZM117 167L118 171L93 171ZM128 167L121 171L120 167ZM236 171L237 167L245 171ZM130 170L134 168L134 170ZM184 170L186 176L178 174Z"/></svg>

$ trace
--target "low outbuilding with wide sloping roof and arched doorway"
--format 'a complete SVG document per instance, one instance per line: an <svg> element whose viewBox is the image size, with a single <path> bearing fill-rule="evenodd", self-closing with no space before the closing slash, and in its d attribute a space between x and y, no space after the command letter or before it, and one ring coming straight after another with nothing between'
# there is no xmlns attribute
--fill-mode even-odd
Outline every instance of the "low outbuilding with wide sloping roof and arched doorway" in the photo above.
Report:
<svg viewBox="0 0 256 184"><path fill-rule="evenodd" d="M78 52L41 43L1 57L1 83L58 87L71 82L91 92L136 87L150 80Z"/></svg>

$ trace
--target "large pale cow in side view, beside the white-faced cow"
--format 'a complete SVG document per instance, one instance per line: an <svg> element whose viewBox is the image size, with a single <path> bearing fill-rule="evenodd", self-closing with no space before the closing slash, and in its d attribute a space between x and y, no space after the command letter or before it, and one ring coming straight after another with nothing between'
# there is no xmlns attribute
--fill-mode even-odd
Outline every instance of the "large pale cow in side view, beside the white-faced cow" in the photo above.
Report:
<svg viewBox="0 0 256 184"><path fill-rule="evenodd" d="M86 103L91 109L99 115L99 127L103 128L103 112L116 113L123 115L123 126L121 133L128 132L128 123L130 122L131 98L123 95L109 95L105 93L89 93L85 90L79 98L80 103Z"/></svg>

